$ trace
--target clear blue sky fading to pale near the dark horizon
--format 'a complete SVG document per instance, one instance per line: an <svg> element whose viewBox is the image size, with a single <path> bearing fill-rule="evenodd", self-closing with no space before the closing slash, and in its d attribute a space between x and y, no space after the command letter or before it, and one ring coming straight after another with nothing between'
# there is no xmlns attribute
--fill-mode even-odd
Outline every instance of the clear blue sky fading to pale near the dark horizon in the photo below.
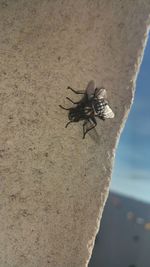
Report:
<svg viewBox="0 0 150 267"><path fill-rule="evenodd" d="M150 203L150 36L118 145L111 191Z"/></svg>

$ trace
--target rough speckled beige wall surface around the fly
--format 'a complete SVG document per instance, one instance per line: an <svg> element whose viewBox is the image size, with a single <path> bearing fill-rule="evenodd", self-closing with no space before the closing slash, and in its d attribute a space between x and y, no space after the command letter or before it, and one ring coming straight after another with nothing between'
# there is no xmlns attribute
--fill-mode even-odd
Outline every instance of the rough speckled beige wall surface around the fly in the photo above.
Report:
<svg viewBox="0 0 150 267"><path fill-rule="evenodd" d="M149 13L149 0L0 0L0 267L87 265ZM116 116L82 140L58 104L91 79Z"/></svg>

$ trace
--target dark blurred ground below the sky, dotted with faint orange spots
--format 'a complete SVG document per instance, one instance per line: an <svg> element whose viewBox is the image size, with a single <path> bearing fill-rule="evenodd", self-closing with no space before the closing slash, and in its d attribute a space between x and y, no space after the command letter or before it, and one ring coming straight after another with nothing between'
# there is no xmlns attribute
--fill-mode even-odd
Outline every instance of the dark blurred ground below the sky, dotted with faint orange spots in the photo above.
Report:
<svg viewBox="0 0 150 267"><path fill-rule="evenodd" d="M89 267L149 267L150 205L110 193Z"/></svg>

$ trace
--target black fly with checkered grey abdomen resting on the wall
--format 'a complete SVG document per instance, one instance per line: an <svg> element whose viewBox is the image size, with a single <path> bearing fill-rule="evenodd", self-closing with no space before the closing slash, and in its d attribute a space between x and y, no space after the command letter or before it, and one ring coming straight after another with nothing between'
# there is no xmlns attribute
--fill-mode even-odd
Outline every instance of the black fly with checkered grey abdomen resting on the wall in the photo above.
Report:
<svg viewBox="0 0 150 267"><path fill-rule="evenodd" d="M108 118L114 118L114 113L108 105L106 100L107 94L105 88L95 88L94 81L90 81L85 91L74 90L68 86L69 90L75 94L82 95L82 98L78 102L74 102L69 97L66 97L72 104L73 107L65 108L59 105L60 108L68 110L69 122L66 124L66 128L70 123L83 122L83 139L85 135L96 127L96 118L105 120Z"/></svg>

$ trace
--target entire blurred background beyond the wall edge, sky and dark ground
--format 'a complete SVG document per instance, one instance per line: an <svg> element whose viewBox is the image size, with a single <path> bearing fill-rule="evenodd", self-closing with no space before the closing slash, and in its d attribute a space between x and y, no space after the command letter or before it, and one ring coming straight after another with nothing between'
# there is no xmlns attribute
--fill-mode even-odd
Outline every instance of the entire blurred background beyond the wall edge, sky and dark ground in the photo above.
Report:
<svg viewBox="0 0 150 267"><path fill-rule="evenodd" d="M150 267L150 37L89 267Z"/></svg>

